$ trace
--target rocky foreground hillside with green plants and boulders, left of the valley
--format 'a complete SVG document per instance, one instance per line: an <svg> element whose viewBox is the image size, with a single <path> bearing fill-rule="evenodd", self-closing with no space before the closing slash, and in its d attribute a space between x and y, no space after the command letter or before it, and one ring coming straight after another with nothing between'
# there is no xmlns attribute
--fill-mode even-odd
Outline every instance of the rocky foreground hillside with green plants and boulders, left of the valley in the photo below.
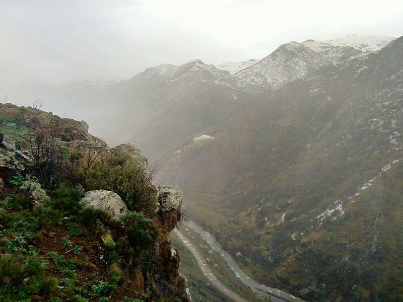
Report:
<svg viewBox="0 0 403 302"><path fill-rule="evenodd" d="M182 191L85 122L0 104L0 300L190 301L170 232Z"/></svg>

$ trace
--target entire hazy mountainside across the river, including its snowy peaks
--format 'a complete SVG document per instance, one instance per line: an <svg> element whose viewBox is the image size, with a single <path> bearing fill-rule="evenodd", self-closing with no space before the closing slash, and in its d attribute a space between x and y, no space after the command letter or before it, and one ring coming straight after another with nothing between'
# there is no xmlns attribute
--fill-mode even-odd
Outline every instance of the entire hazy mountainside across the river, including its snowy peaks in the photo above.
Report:
<svg viewBox="0 0 403 302"><path fill-rule="evenodd" d="M66 100L107 111L83 119L139 146L254 277L309 301L397 302L402 66L403 37L292 41L235 74L162 64Z"/></svg>

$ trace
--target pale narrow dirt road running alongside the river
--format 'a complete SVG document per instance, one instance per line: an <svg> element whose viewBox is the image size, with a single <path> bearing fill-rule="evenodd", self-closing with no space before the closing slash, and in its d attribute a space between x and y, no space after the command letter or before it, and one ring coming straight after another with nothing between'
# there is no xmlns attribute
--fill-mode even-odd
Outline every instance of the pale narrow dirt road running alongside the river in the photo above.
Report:
<svg viewBox="0 0 403 302"><path fill-rule="evenodd" d="M245 300L244 298L240 297L237 293L233 292L232 290L229 290L227 287L225 287L213 274L209 266L207 265L206 261L201 257L197 249L178 231L174 231L180 241L189 249L189 251L192 253L194 258L196 259L198 267L203 271L207 279L210 281L210 283L217 288L219 291L221 291L223 294L225 294L228 298L230 298L232 301L235 302L249 302Z"/></svg>

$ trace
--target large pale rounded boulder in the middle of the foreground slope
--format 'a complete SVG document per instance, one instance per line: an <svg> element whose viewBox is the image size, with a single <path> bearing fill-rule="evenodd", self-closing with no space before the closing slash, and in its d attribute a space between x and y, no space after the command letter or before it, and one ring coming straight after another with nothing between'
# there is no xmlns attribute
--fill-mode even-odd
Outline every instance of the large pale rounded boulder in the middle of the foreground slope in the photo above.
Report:
<svg viewBox="0 0 403 302"><path fill-rule="evenodd" d="M127 206L119 195L107 190L88 191L80 201L84 206L99 208L109 212L115 220L127 212Z"/></svg>

